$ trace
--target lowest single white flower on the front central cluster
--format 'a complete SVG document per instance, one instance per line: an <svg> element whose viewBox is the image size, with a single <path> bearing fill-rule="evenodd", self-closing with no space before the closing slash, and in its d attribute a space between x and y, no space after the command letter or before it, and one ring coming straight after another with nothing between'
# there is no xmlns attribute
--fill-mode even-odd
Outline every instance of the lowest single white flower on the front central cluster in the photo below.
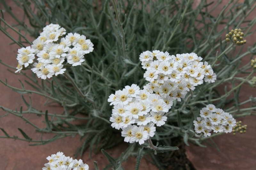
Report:
<svg viewBox="0 0 256 170"><path fill-rule="evenodd" d="M144 141L148 138L148 132L144 131L144 128L142 126L137 127L134 126L132 128L132 140L135 140L136 142L139 142L139 144L144 144Z"/></svg>

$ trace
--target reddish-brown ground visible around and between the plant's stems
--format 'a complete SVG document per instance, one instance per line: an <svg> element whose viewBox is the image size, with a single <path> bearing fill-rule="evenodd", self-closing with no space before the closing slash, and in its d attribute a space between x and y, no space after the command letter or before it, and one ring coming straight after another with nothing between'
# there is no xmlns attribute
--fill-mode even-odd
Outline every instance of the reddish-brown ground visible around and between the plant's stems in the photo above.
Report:
<svg viewBox="0 0 256 170"><path fill-rule="evenodd" d="M16 16L22 17L23 12L20 8L15 7L13 2L9 2L13 8ZM218 11L217 11L218 12ZM255 17L256 12L252 14L252 18ZM251 18L251 19L252 19ZM5 19L10 24L14 24L13 19L5 15ZM18 36L8 30L11 35L18 39ZM12 66L16 66L16 52L18 49L17 45L9 45L12 41L7 38L3 33L0 33L0 51L2 52L1 60ZM247 45L252 45L255 42L256 35L252 35L250 39L247 39ZM248 58L244 59L244 62L248 61ZM30 74L30 71L26 71ZM6 67L0 67L0 79L8 79L8 83L12 86L20 87L18 79L25 80L21 75L15 75L12 72L6 70ZM250 95L255 96L254 89L244 86L243 93L241 96L241 101L247 99ZM20 94L13 92L4 85L0 85L0 105L8 108L19 109L20 106L24 106L21 100ZM45 98L32 95L33 107L41 110L48 109L51 113L61 113L62 110L58 107L45 107ZM25 107L26 108L26 107ZM4 115L4 112L0 110L0 115ZM37 117L35 115L26 115L26 117L35 123L39 127L44 127L45 124L42 122L43 118ZM213 146L208 146L207 148L201 148L190 144L187 149L188 159L193 163L196 169L255 169L256 167L256 133L255 133L255 121L256 116L250 116L246 118L241 118L244 124L248 125L248 130L245 134L238 134L233 136L232 134L223 135L214 138L214 142L218 145L220 152ZM20 118L13 115L8 115L7 117L0 118L0 127L4 128L10 135L17 135L22 137L17 128L23 129L30 137L33 139L40 139L40 135L31 128L30 125L25 124ZM3 134L0 132L0 135ZM51 135L46 135L45 138L51 137ZM53 143L41 146L29 146L27 142L15 141L12 139L0 139L0 169L2 170L23 170L23 169L41 169L41 167L46 163L46 157L52 153L58 151L64 152L68 156L73 156L76 152L78 146L81 145L79 137L76 136L66 137L60 139ZM122 144L117 146L108 152L117 157L121 152L125 150L127 145ZM88 152L82 157L84 162L88 163L90 167L93 167L93 161L98 161L100 168L107 165L107 160L102 154L93 155L90 159ZM133 169L136 160L133 158L128 159L123 165L126 169ZM141 162L140 169L156 169L145 160Z"/></svg>

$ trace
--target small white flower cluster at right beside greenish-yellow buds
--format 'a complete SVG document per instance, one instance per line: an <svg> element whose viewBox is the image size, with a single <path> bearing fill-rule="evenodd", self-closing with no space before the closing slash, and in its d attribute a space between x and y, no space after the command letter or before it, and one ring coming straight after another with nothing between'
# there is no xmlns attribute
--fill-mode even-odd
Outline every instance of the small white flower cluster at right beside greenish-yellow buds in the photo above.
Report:
<svg viewBox="0 0 256 170"><path fill-rule="evenodd" d="M200 110L200 117L194 121L196 133L204 133L204 137L211 136L211 131L218 132L232 132L236 125L236 119L229 113L224 112L220 108L209 104Z"/></svg>

